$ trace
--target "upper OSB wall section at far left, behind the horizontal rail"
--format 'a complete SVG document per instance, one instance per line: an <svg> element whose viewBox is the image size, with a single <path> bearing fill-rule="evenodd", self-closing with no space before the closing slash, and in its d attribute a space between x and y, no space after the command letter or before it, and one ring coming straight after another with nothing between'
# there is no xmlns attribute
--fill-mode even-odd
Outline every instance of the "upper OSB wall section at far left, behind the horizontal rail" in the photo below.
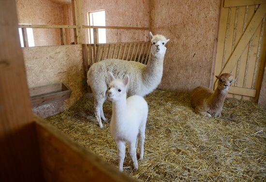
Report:
<svg viewBox="0 0 266 182"><path fill-rule="evenodd" d="M19 24L62 25L63 7L50 0L16 0ZM59 29L33 29L35 46L61 45Z"/></svg>

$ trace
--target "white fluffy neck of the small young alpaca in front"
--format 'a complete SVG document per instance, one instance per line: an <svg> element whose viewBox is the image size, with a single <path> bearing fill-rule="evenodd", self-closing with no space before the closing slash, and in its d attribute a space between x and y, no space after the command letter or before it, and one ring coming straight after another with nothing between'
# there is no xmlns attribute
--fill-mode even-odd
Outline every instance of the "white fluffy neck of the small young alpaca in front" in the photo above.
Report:
<svg viewBox="0 0 266 182"><path fill-rule="evenodd" d="M127 118L127 101L126 94L124 94L119 100L113 101L113 114L112 120L119 124L125 122Z"/></svg>

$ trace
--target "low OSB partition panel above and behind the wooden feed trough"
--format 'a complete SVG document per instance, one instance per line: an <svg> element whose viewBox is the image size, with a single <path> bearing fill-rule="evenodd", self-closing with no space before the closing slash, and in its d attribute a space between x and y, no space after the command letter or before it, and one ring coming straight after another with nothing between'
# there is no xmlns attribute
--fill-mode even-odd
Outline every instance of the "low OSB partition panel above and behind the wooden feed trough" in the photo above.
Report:
<svg viewBox="0 0 266 182"><path fill-rule="evenodd" d="M26 47L23 53L29 88L63 82L72 90L67 107L82 96L81 45Z"/></svg>

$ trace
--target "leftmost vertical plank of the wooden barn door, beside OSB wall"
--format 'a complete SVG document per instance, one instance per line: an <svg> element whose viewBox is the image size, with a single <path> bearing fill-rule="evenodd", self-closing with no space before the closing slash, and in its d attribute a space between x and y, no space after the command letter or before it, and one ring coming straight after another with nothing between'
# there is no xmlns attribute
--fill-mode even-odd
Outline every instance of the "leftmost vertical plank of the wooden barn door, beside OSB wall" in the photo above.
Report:
<svg viewBox="0 0 266 182"><path fill-rule="evenodd" d="M225 42L228 13L229 13L229 8L222 8L222 13L220 17L220 28L219 28L219 33L218 33L215 71L214 71L216 75L218 75L222 70L222 58L223 58L223 52L224 52L224 42ZM214 79L214 81L215 80L216 79ZM215 89L215 87L213 88Z"/></svg>

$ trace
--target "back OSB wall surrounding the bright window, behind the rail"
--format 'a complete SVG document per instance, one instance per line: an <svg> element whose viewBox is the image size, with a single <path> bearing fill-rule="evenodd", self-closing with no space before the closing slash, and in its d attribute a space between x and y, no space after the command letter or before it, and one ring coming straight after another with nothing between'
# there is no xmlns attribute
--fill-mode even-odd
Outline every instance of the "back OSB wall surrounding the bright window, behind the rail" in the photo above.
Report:
<svg viewBox="0 0 266 182"><path fill-rule="evenodd" d="M148 0L83 0L83 25L88 25L87 13L97 10L105 10L106 26L148 27L149 25ZM71 4L64 5L64 14L72 16ZM69 18L69 22L65 20L68 24L72 22L72 17ZM72 33L70 36L71 38L67 40L74 41ZM86 44L88 44L88 29L86 29L85 36ZM106 43L148 40L148 30L106 30Z"/></svg>

